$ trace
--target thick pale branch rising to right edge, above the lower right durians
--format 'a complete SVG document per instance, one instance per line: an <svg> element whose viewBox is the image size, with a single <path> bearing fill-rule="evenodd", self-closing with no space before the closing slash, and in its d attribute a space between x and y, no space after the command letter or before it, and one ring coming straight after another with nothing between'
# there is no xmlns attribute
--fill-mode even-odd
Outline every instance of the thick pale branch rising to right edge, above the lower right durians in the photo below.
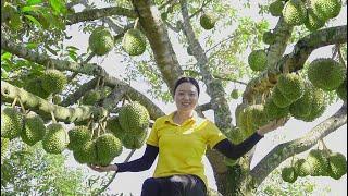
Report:
<svg viewBox="0 0 348 196"><path fill-rule="evenodd" d="M254 177L257 185L260 185L262 181L287 158L309 150L320 139L346 123L347 102L345 102L334 115L316 125L303 137L276 146L251 170L250 174Z"/></svg>

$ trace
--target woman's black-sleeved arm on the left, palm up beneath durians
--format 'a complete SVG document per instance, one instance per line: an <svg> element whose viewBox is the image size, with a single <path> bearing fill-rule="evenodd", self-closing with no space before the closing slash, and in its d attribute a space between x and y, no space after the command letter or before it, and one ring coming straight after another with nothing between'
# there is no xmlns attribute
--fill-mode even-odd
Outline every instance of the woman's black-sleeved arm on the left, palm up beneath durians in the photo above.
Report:
<svg viewBox="0 0 348 196"><path fill-rule="evenodd" d="M150 169L158 154L159 154L158 147L147 144L145 152L142 157L139 159L125 162L125 163L109 164L105 167L91 164L89 166L89 168L98 172L109 172L109 171L139 172L139 171Z"/></svg>

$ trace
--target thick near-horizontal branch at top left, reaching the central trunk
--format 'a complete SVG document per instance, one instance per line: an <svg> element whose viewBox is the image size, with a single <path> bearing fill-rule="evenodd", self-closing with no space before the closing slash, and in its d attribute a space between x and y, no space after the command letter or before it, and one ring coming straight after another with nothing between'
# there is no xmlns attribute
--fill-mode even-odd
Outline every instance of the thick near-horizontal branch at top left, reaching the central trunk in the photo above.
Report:
<svg viewBox="0 0 348 196"><path fill-rule="evenodd" d="M94 21L102 17L112 16L112 15L122 15L122 16L127 16L132 19L137 17L137 14L129 9L125 9L122 7L110 7L110 8L102 8L102 9L86 10L83 12L67 15L66 24L72 25L79 22Z"/></svg>

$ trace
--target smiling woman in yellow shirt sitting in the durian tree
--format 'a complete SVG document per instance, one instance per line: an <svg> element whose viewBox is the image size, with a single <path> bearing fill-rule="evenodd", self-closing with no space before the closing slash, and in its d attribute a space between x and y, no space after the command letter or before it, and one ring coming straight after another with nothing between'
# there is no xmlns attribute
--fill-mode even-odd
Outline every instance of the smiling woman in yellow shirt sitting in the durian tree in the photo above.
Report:
<svg viewBox="0 0 348 196"><path fill-rule="evenodd" d="M199 93L196 79L179 78L174 87L177 110L156 120L142 157L126 163L90 168L99 172L139 172L150 169L159 155L153 177L144 182L141 196L206 196L208 180L202 157L207 146L238 159L279 124L262 126L239 145L234 145L213 122L197 115Z"/></svg>

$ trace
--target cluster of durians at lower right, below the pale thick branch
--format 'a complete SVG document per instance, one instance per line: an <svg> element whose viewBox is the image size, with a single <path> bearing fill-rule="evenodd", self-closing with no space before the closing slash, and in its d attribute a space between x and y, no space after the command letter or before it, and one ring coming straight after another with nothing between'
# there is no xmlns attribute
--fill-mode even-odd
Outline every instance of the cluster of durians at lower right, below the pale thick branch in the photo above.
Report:
<svg viewBox="0 0 348 196"><path fill-rule="evenodd" d="M306 159L298 159L293 166L282 169L282 179L294 183L299 176L330 176L339 180L347 173L346 157L328 149L310 150Z"/></svg>

